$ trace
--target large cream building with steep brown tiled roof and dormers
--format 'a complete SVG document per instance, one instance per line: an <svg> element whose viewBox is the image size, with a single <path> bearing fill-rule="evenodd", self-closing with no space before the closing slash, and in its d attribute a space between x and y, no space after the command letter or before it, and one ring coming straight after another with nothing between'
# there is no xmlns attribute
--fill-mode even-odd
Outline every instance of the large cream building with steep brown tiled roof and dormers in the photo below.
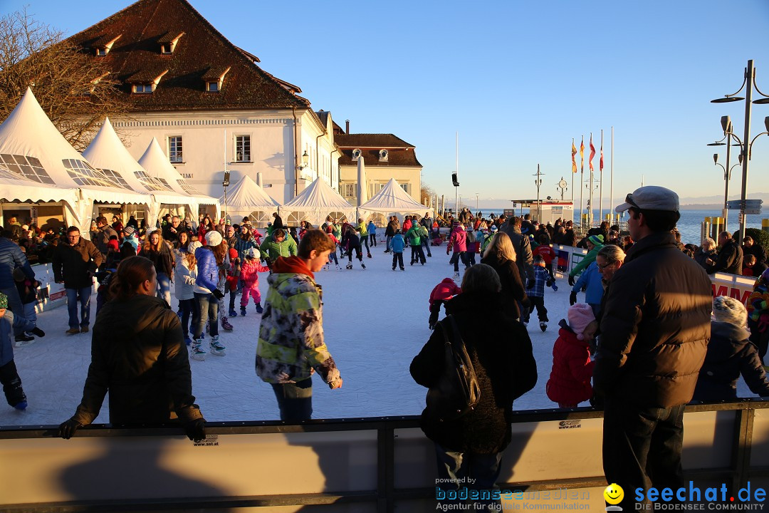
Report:
<svg viewBox="0 0 769 513"><path fill-rule="evenodd" d="M130 118L113 124L134 158L155 137L215 197L225 168L230 182L248 175L280 203L318 175L338 188L331 115L321 119L298 86L262 70L186 0L139 0L69 40L121 83Z"/></svg>

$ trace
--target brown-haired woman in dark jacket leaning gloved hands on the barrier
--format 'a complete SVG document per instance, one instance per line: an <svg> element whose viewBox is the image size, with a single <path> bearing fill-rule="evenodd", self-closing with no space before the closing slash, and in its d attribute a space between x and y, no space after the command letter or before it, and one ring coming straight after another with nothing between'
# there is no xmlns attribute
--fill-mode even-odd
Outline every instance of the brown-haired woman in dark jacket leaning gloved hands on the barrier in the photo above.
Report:
<svg viewBox="0 0 769 513"><path fill-rule="evenodd" d="M126 258L93 328L91 365L75 415L59 426L70 438L98 416L109 391L112 425L159 424L178 418L191 440L205 438L205 419L192 395L187 346L177 315L161 298L155 266Z"/></svg>

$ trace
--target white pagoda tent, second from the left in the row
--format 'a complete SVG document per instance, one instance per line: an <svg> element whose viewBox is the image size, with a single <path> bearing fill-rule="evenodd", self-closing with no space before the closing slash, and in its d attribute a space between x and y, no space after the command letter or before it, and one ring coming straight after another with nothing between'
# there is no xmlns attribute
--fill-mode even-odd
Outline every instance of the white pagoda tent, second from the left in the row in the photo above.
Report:
<svg viewBox="0 0 769 513"><path fill-rule="evenodd" d="M102 172L112 173L124 180L133 190L151 195L151 201L145 208L145 219L153 222L160 215L161 205L182 207L190 202L190 195L178 194L168 183L153 178L135 161L122 141L115 133L109 118L105 118L102 128L83 152L88 162ZM179 208L176 209L177 211ZM197 216L198 212L190 212Z"/></svg>

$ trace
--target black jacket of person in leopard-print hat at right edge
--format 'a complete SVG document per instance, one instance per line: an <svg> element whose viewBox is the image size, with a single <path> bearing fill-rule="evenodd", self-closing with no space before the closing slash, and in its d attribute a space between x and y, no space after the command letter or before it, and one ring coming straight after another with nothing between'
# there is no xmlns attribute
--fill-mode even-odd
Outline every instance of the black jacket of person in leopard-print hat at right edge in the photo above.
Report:
<svg viewBox="0 0 769 513"><path fill-rule="evenodd" d="M711 341L694 388L695 401L736 399L740 375L754 394L769 397L767 373L750 336L745 328L728 322L711 323Z"/></svg>

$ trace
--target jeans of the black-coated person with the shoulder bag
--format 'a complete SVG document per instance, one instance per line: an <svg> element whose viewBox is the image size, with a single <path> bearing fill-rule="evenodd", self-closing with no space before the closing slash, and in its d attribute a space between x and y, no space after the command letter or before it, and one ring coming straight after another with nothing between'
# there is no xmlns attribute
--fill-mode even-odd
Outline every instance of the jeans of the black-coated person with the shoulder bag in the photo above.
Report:
<svg viewBox="0 0 769 513"><path fill-rule="evenodd" d="M435 456L438 459L438 482L441 483L443 491L458 490L460 484L467 486L470 490L494 490L496 488L497 478L499 478L502 453L493 455L478 455L471 452L449 451L439 444L435 444ZM470 484L467 478L473 478L474 482ZM630 494L628 494L630 495ZM449 502L448 500L444 502ZM456 501L454 501L456 503ZM476 504L491 506L491 508L475 509L472 511L499 511L494 509L495 505L500 505L499 500L478 500ZM630 510L625 510L630 511Z"/></svg>

